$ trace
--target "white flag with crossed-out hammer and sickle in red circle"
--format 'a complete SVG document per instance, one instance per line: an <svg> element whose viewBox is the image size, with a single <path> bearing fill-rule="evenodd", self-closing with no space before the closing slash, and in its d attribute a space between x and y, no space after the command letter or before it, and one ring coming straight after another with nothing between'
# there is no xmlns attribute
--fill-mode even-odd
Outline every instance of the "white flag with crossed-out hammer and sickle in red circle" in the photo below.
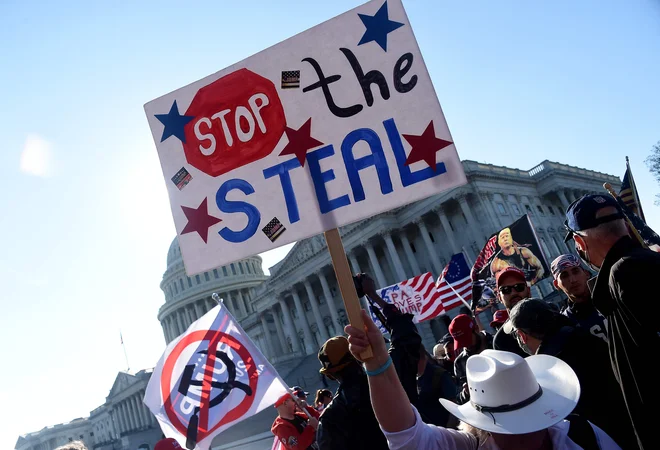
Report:
<svg viewBox="0 0 660 450"><path fill-rule="evenodd" d="M286 391L275 369L220 304L167 346L144 403L165 436L191 450L208 450L216 435Z"/></svg>

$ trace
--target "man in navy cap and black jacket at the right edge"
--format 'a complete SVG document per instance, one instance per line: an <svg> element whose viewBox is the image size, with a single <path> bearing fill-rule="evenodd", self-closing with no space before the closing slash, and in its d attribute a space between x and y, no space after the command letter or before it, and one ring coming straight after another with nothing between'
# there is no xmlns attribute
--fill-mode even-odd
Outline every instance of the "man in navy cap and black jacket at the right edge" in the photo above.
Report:
<svg viewBox="0 0 660 450"><path fill-rule="evenodd" d="M657 448L653 424L660 420L656 357L658 321L653 314L660 254L633 241L614 199L585 195L566 212L567 240L585 263L599 270L589 281L593 304L607 319L614 375L623 391L639 447Z"/></svg>

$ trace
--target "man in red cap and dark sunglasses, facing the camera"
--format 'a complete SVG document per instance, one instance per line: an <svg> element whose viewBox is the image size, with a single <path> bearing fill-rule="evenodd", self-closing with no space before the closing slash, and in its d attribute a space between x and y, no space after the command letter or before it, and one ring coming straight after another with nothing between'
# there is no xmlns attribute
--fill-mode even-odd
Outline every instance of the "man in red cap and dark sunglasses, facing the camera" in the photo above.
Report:
<svg viewBox="0 0 660 450"><path fill-rule="evenodd" d="M525 273L516 267L507 267L499 272L496 283L500 301L504 304L509 314L511 314L511 308L516 306L516 303L530 297L531 291L525 280ZM507 320L497 333L495 333L493 348L495 350L515 353L524 358L527 354L520 348L513 333L514 330L511 326L511 321Z"/></svg>

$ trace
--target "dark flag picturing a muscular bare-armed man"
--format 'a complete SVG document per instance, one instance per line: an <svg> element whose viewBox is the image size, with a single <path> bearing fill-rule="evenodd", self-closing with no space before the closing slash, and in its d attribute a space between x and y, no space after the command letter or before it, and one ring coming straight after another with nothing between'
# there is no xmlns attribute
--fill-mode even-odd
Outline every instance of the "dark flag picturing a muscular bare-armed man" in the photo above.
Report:
<svg viewBox="0 0 660 450"><path fill-rule="evenodd" d="M479 253L470 274L473 309L481 301L486 287L495 289L497 272L509 266L525 272L531 285L550 275L550 266L527 214L493 233Z"/></svg>

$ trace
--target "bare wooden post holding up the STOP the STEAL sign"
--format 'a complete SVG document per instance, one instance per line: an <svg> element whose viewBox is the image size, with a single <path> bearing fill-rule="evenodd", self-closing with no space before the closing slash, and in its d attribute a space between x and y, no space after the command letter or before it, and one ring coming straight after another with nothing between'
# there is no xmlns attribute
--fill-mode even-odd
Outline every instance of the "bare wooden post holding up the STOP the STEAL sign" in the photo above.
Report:
<svg viewBox="0 0 660 450"><path fill-rule="evenodd" d="M361 330L364 329L364 322L360 315L360 300L358 299L357 292L355 291L355 284L353 283L353 275L351 268L346 259L346 252L344 245L341 243L341 236L339 229L332 228L324 233L325 241L328 244L330 251L330 258L332 259L332 267L335 269L335 276L339 284L339 292L344 301L344 308L348 315L348 320L351 325ZM367 348L361 355L362 360L369 359L373 356L371 347Z"/></svg>

